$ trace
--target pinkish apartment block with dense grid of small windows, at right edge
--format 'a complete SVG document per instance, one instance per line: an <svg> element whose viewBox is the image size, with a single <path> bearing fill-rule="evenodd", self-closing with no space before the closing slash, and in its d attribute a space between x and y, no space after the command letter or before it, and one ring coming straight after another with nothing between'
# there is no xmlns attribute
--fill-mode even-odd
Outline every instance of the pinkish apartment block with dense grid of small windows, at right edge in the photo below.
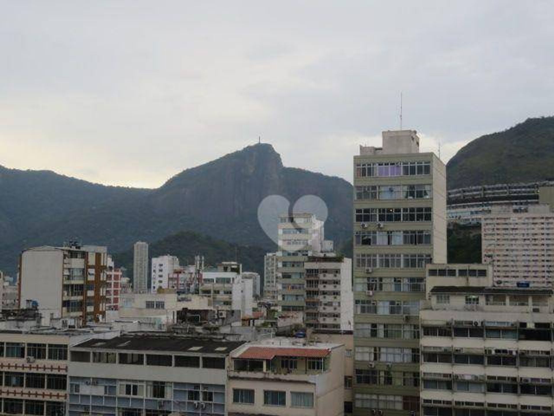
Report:
<svg viewBox="0 0 554 416"><path fill-rule="evenodd" d="M483 263L493 265L496 286L554 285L553 206L529 205L520 210L510 206L483 216Z"/></svg>

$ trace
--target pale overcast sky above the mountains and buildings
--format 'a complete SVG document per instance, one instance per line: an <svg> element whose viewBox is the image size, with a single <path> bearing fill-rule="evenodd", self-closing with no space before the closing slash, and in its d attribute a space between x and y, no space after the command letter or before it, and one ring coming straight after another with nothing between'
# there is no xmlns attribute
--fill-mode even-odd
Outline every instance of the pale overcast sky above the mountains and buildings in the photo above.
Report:
<svg viewBox="0 0 554 416"><path fill-rule="evenodd" d="M418 130L447 161L554 114L551 1L0 0L0 165L157 187L261 140L351 181Z"/></svg>

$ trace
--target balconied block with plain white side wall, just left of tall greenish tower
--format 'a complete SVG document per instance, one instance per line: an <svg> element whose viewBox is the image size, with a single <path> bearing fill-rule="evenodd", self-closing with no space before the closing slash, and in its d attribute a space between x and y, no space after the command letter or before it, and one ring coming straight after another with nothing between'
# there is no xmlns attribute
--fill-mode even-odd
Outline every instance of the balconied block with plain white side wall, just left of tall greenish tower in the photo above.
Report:
<svg viewBox="0 0 554 416"><path fill-rule="evenodd" d="M305 295L306 326L352 331L352 260L342 256L309 256L304 268L304 288L297 283L288 284L284 281L281 288L283 293Z"/></svg>

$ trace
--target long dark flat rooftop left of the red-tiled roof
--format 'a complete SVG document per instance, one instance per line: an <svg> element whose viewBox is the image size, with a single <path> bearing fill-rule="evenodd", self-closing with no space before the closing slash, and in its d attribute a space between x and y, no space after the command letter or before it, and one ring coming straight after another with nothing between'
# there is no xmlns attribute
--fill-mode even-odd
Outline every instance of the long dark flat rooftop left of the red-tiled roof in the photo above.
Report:
<svg viewBox="0 0 554 416"><path fill-rule="evenodd" d="M89 339L77 344L75 348L228 354L242 344L244 344L242 341L146 335Z"/></svg>

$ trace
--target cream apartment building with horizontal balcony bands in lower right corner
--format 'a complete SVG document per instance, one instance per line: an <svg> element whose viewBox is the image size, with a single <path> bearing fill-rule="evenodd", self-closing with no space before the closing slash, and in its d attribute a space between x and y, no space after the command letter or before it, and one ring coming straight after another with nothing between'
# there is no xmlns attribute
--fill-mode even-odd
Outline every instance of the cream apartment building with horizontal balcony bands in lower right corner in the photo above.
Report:
<svg viewBox="0 0 554 416"><path fill-rule="evenodd" d="M428 265L422 414L554 414L552 293L493 286L490 265Z"/></svg>

